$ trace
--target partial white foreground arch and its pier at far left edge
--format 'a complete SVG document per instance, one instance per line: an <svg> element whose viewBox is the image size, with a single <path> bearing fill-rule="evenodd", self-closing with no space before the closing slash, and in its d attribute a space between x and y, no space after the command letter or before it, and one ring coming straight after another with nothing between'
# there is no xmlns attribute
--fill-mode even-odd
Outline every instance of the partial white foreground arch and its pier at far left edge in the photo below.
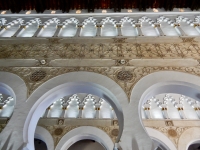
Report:
<svg viewBox="0 0 200 150"><path fill-rule="evenodd" d="M7 89L11 91L11 96L16 99L14 112L7 126L0 134L0 149L5 143L7 137L12 133L9 145L13 145L16 149L23 143L23 126L26 119L27 112L25 111L25 101L27 99L27 88L24 81L17 75L1 72L0 71L0 83L8 86ZM17 138L16 138L17 137Z"/></svg>

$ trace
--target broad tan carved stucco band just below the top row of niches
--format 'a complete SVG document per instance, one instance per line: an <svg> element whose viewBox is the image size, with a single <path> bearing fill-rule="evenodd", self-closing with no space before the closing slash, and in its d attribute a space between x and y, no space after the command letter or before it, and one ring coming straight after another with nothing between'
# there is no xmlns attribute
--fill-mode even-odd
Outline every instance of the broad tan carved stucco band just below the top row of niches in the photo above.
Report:
<svg viewBox="0 0 200 150"><path fill-rule="evenodd" d="M0 59L157 59L200 58L200 44L1 44Z"/></svg>

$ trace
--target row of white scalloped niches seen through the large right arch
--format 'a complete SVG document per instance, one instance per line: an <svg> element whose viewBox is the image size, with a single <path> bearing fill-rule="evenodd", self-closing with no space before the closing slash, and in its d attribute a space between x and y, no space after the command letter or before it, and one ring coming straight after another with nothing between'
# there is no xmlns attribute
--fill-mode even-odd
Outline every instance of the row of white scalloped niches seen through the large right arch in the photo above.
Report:
<svg viewBox="0 0 200 150"><path fill-rule="evenodd" d="M143 119L200 119L200 102L175 93L158 94L143 104Z"/></svg>

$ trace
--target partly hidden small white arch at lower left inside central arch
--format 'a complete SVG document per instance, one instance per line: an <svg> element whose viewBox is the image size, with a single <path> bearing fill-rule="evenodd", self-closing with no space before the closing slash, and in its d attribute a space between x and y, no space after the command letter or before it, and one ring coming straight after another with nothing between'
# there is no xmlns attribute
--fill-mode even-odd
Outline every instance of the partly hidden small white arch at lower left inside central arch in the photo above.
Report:
<svg viewBox="0 0 200 150"><path fill-rule="evenodd" d="M54 150L54 140L47 129L37 126L34 138L40 139L46 143L48 150Z"/></svg>

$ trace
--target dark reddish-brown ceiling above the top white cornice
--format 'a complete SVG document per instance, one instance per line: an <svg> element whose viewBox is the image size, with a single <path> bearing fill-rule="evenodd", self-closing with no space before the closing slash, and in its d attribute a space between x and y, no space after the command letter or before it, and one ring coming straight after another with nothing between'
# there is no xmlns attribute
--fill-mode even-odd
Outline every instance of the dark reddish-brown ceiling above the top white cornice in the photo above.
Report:
<svg viewBox="0 0 200 150"><path fill-rule="evenodd" d="M68 13L73 9L86 9L88 12L94 12L94 9L113 9L114 12L120 12L121 9L145 11L148 8L164 8L166 11L173 8L198 10L200 0L0 0L0 10L10 9L12 13L21 10L36 10L37 13L62 10Z"/></svg>

